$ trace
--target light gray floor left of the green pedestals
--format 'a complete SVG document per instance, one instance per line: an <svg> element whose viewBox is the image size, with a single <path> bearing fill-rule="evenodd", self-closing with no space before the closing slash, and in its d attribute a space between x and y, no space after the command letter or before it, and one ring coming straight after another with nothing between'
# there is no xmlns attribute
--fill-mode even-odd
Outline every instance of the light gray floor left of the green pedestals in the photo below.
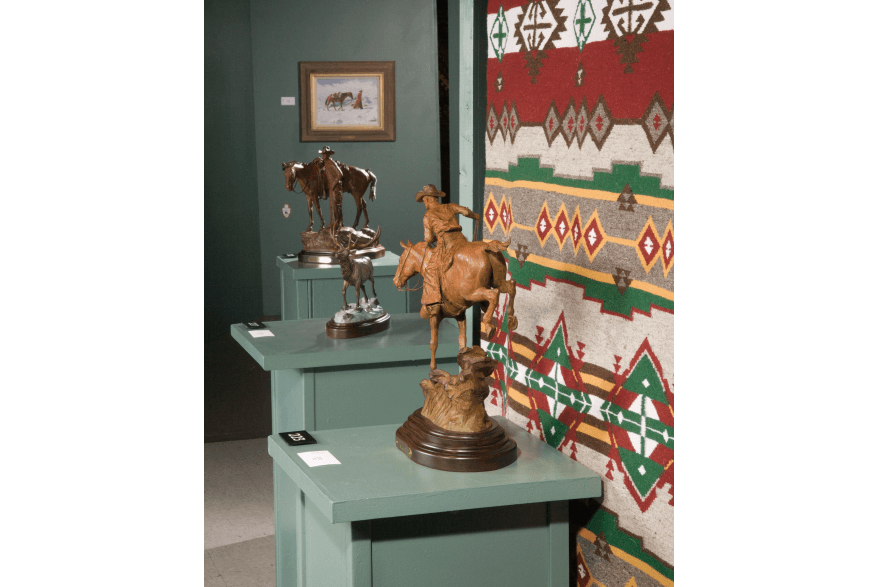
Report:
<svg viewBox="0 0 877 587"><path fill-rule="evenodd" d="M268 441L204 444L204 587L274 587Z"/></svg>

